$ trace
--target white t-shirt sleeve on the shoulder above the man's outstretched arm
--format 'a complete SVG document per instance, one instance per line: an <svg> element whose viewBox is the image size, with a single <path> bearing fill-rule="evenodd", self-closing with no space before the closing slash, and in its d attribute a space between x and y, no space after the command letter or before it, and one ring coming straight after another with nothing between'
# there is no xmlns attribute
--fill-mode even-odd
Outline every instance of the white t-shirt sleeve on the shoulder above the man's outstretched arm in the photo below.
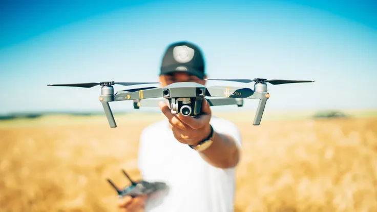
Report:
<svg viewBox="0 0 377 212"><path fill-rule="evenodd" d="M232 121L226 120L226 119L218 119L216 122L211 123L214 130L221 134L226 134L228 136L231 136L236 141L236 144L239 148L241 148L242 144L242 137L241 133L238 130L236 124L234 124Z"/></svg>

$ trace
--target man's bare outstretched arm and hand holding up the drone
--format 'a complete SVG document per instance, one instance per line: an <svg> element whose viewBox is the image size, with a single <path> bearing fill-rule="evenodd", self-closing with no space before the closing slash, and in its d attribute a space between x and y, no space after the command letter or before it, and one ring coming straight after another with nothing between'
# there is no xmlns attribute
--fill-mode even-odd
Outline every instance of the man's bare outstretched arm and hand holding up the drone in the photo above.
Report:
<svg viewBox="0 0 377 212"><path fill-rule="evenodd" d="M211 133L210 120L212 116L210 104L203 99L202 115L198 117L172 114L168 105L160 102L162 113L169 119L175 138L184 144L197 145ZM219 168L230 168L238 164L240 150L234 138L214 129L213 144L199 153L200 156Z"/></svg>

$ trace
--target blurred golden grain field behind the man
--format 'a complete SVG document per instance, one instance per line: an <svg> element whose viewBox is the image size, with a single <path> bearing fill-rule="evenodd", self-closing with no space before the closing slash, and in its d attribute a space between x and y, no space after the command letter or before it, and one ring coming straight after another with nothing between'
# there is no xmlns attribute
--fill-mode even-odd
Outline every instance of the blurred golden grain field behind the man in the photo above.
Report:
<svg viewBox="0 0 377 212"><path fill-rule="evenodd" d="M377 211L377 117L273 119L215 114L243 138L235 211ZM290 116L287 114L287 116ZM246 118L245 118L246 117ZM252 118L250 118L252 117ZM161 115L0 121L0 211L118 211L138 138Z"/></svg>

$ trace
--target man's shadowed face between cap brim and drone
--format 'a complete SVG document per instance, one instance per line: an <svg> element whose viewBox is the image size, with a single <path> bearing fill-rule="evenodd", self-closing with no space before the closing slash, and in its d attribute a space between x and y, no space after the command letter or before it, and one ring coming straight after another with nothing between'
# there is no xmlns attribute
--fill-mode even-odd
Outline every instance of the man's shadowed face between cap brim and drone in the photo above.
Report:
<svg viewBox="0 0 377 212"><path fill-rule="evenodd" d="M204 76L204 79L205 78L206 76ZM164 74L159 76L159 81L161 82L162 87L165 87L174 82L196 82L205 85L204 79L200 79L195 75L187 74L184 72L174 72L169 75Z"/></svg>

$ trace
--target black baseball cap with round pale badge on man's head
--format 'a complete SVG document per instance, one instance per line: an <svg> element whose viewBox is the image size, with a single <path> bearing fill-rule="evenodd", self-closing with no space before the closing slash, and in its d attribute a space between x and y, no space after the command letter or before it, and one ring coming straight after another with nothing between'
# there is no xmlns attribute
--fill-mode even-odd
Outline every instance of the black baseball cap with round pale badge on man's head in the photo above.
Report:
<svg viewBox="0 0 377 212"><path fill-rule="evenodd" d="M160 71L160 75L185 72L203 79L205 75L203 53L198 46L188 41L173 43L165 50Z"/></svg>

